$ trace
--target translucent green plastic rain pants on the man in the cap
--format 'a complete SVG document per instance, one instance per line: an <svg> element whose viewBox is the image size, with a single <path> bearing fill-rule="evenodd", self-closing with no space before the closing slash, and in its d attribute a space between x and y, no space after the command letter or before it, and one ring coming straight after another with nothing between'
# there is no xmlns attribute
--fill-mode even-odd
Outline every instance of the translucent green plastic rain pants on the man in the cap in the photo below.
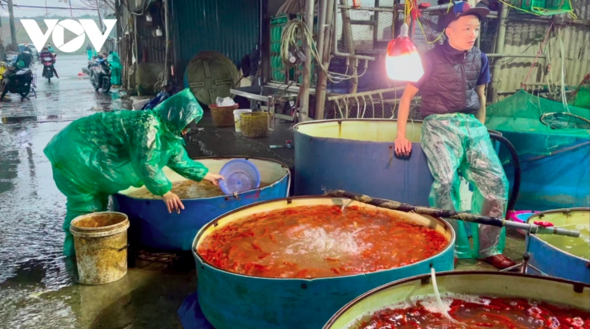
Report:
<svg viewBox="0 0 590 329"><path fill-rule="evenodd" d="M490 140L486 126L473 114L434 114L422 124L422 149L434 183L428 201L435 208L461 211L459 195L463 176L473 188L471 213L504 218L508 199L508 180ZM471 249L465 223L447 219L457 234L455 257L486 258L501 254L505 230L470 223Z"/></svg>

